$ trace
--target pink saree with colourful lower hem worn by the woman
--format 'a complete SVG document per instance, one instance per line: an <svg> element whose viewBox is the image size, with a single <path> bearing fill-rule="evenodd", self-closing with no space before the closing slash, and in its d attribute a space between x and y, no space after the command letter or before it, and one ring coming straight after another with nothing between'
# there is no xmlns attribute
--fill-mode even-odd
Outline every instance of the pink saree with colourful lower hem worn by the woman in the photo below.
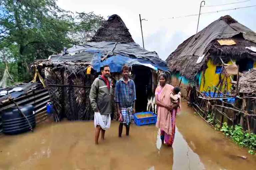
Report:
<svg viewBox="0 0 256 170"><path fill-rule="evenodd" d="M170 84L166 84L162 89L161 87L157 87L155 95L157 95L158 100L162 103L171 105L170 93L173 88ZM174 141L177 111L178 108L172 111L168 111L168 109L161 106L157 108L156 127L161 130L161 139L170 146L172 146Z"/></svg>

